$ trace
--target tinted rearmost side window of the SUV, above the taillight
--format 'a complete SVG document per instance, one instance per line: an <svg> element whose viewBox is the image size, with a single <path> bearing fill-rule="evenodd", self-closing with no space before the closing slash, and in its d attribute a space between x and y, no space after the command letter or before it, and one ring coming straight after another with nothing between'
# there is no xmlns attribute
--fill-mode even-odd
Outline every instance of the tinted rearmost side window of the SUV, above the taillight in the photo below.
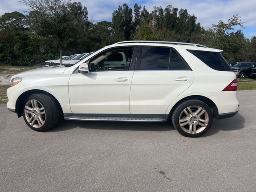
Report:
<svg viewBox="0 0 256 192"><path fill-rule="evenodd" d="M220 54L220 52L211 51L199 51L199 50L188 50L207 66L218 71L232 71L226 60Z"/></svg>

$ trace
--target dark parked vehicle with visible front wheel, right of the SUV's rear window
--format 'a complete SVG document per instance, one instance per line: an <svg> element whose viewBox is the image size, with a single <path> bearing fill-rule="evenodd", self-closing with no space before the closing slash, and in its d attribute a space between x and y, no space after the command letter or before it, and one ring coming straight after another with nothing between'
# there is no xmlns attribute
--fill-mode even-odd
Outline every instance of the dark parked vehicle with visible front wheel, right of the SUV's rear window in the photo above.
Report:
<svg viewBox="0 0 256 192"><path fill-rule="evenodd" d="M239 62L232 66L232 70L239 78L251 76L252 68L256 67L256 62Z"/></svg>

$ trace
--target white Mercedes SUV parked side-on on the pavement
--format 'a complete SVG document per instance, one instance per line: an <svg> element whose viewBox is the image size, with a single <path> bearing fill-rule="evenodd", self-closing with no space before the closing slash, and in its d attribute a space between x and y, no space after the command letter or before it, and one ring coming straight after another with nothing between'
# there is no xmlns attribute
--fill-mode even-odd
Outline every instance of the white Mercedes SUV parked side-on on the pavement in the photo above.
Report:
<svg viewBox="0 0 256 192"><path fill-rule="evenodd" d="M118 42L74 65L12 76L7 107L36 131L63 117L171 120L180 134L198 137L213 118L234 116L239 109L236 75L221 51L179 42Z"/></svg>

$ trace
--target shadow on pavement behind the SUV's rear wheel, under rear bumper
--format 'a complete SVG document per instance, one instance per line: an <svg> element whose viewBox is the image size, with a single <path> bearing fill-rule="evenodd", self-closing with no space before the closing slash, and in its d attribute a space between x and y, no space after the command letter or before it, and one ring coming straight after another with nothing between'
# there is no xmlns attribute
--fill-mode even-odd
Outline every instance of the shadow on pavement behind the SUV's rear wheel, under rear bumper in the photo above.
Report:
<svg viewBox="0 0 256 192"><path fill-rule="evenodd" d="M218 133L219 131L235 131L244 128L245 119L239 113L234 117L216 120L214 119L210 130L202 137L207 137Z"/></svg>

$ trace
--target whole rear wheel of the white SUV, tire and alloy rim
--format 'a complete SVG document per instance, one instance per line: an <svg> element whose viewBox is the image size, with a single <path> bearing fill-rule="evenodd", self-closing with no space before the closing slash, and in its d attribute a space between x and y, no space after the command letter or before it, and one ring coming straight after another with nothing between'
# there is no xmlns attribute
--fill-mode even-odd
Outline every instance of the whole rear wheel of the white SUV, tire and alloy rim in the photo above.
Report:
<svg viewBox="0 0 256 192"><path fill-rule="evenodd" d="M172 124L186 137L199 137L211 127L213 120L209 106L200 100L180 104L172 114Z"/></svg>

